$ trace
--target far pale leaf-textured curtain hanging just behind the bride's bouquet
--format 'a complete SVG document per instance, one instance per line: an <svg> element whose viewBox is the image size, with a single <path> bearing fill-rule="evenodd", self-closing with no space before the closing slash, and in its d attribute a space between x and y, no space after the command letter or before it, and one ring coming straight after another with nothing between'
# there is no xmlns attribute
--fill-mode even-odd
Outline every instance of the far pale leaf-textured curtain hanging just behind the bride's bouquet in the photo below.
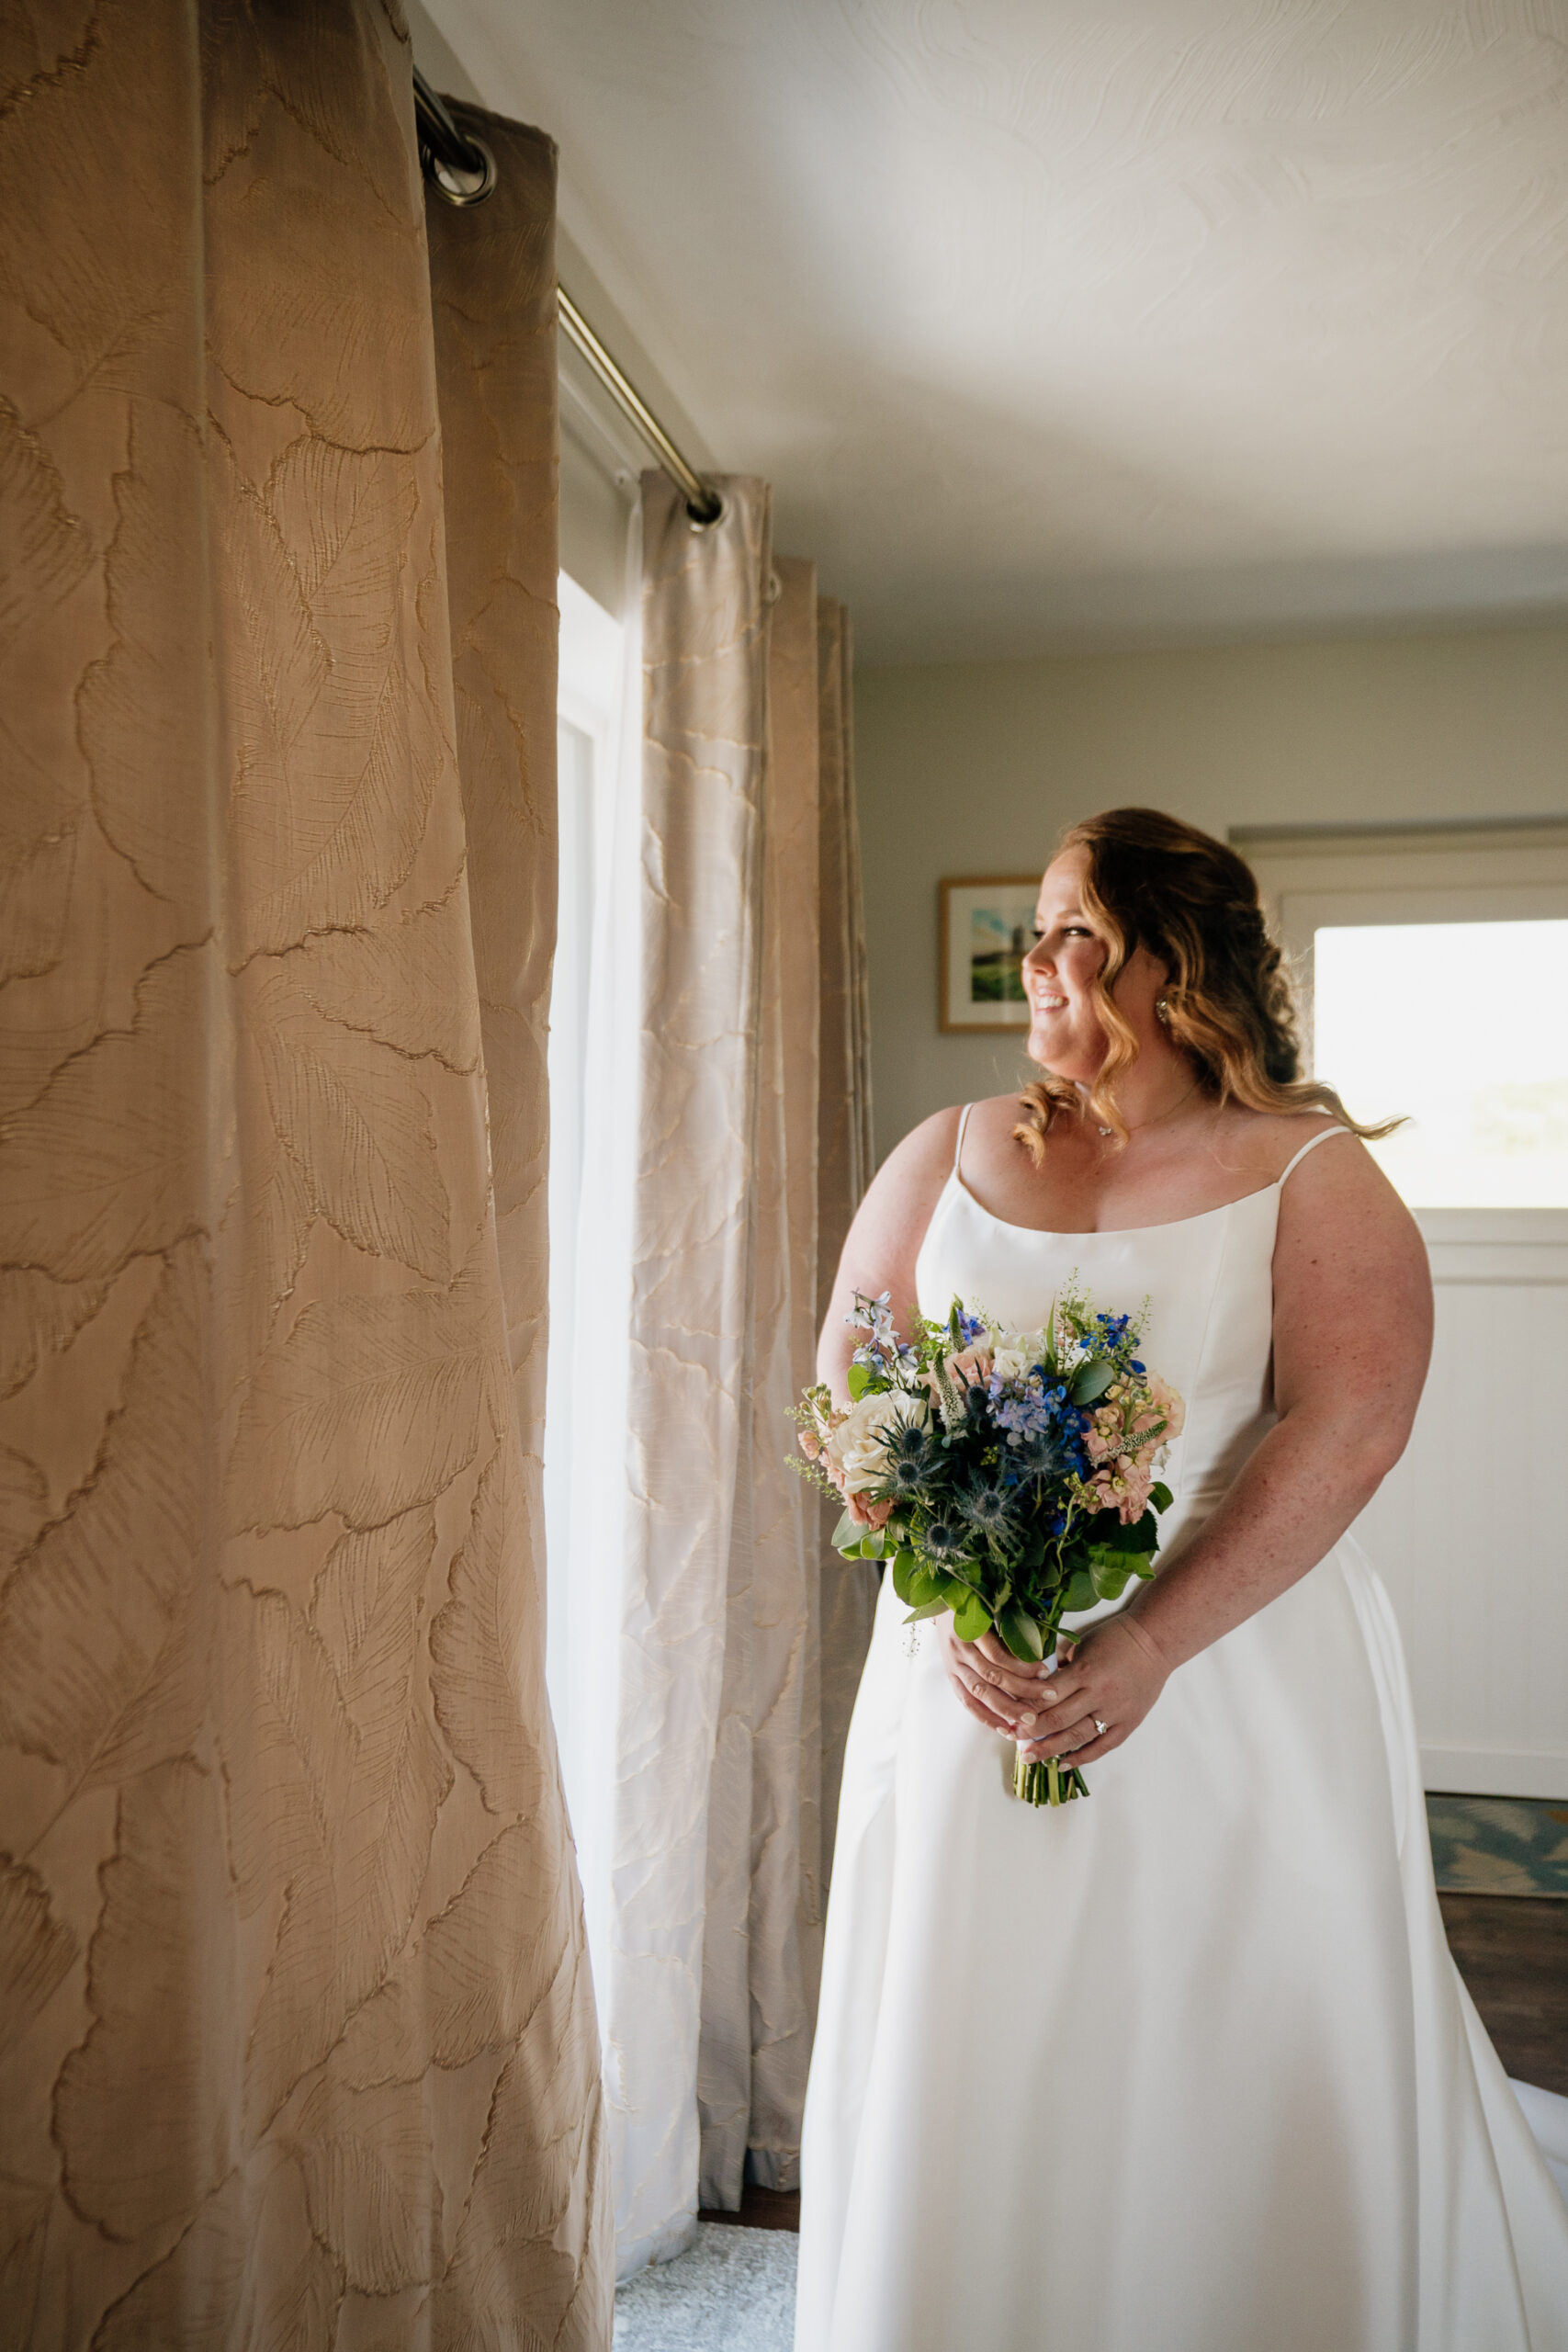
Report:
<svg viewBox="0 0 1568 2352"><path fill-rule="evenodd" d="M644 477L644 997L609 2091L623 2274L799 2178L870 1628L783 1456L867 1174L849 640L757 482ZM827 1628L830 1639L823 1637ZM825 1722L825 1703L830 1708Z"/></svg>

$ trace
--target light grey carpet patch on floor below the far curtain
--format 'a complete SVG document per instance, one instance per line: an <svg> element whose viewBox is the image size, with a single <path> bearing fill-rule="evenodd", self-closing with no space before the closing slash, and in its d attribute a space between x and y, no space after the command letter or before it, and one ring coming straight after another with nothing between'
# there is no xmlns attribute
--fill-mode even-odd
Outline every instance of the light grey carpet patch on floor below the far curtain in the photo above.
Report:
<svg viewBox="0 0 1568 2352"><path fill-rule="evenodd" d="M792 2230L701 2220L686 2253L616 2288L616 2352L790 2352L797 2246Z"/></svg>

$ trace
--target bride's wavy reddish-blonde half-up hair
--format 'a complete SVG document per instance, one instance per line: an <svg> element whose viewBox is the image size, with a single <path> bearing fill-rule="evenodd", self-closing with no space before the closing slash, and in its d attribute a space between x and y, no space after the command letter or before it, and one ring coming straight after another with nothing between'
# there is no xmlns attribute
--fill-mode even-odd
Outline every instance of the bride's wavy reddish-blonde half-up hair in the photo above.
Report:
<svg viewBox="0 0 1568 2352"><path fill-rule="evenodd" d="M1399 1120L1363 1127L1333 1087L1300 1077L1300 1011L1281 950L1269 938L1258 880L1225 842L1185 826L1161 809L1105 809L1070 826L1058 856L1086 851L1084 913L1105 941L1105 964L1093 983L1107 1051L1088 1101L1046 1070L1023 1089L1023 1122L1013 1129L1039 1167L1051 1122L1088 1112L1126 1143L1117 1080L1138 1058L1138 1037L1117 1009L1112 988L1126 960L1147 948L1166 964L1166 1035L1194 1063L1215 1103L1248 1110L1326 1110L1354 1136L1385 1136Z"/></svg>

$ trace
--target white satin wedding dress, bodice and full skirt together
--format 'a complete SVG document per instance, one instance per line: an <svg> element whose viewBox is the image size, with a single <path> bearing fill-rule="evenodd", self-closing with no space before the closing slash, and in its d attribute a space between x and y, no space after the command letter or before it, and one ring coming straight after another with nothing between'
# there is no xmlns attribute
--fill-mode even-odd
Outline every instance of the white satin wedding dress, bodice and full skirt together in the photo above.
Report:
<svg viewBox="0 0 1568 2352"><path fill-rule="evenodd" d="M1112 1312L1147 1294L1147 1362L1187 1399L1168 1552L1272 1423L1284 1181L1058 1235L990 1216L954 1162L919 1254L931 1317L957 1294L1039 1327L1067 1275ZM884 1578L797 2352L1568 2352L1568 2209L1448 1957L1354 1541L1178 1668L1060 1811L1011 1797L1011 1745L903 1618Z"/></svg>

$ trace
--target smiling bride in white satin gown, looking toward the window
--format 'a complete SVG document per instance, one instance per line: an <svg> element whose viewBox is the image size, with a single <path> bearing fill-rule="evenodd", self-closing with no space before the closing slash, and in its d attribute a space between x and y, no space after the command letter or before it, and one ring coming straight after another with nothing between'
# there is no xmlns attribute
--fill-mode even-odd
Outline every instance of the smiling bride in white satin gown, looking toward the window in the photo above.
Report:
<svg viewBox="0 0 1568 2352"><path fill-rule="evenodd" d="M1077 1275L1187 1399L1159 1573L1065 1663L907 1632L844 1762L797 2352L1563 2352L1568 2211L1443 1940L1410 1698L1347 1534L1427 1369L1420 1235L1234 851L1077 826L1023 1094L891 1155L856 1291L1039 1327ZM1091 1797L1011 1797L1013 1738Z"/></svg>

